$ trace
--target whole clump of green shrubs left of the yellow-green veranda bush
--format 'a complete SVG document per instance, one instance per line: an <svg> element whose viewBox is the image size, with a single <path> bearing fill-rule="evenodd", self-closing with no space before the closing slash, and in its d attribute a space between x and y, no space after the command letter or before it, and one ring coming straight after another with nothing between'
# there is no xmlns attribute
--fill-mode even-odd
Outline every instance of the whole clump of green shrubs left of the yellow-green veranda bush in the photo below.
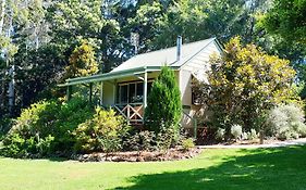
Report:
<svg viewBox="0 0 306 190"><path fill-rule="evenodd" d="M4 155L46 156L71 153L75 139L71 134L93 115L86 101L75 98L68 103L40 101L23 110L3 140Z"/></svg>

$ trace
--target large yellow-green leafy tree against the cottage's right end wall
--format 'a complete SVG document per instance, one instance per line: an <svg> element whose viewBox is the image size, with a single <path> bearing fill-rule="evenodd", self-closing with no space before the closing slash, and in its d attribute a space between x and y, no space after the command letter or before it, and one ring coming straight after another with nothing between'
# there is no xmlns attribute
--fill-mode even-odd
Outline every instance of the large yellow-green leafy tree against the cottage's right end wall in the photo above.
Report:
<svg viewBox="0 0 306 190"><path fill-rule="evenodd" d="M231 39L224 53L210 62L209 84L195 81L193 90L212 111L212 125L227 132L232 124L259 129L267 110L298 100L291 88L295 72L289 62L254 45L243 47L240 38Z"/></svg>

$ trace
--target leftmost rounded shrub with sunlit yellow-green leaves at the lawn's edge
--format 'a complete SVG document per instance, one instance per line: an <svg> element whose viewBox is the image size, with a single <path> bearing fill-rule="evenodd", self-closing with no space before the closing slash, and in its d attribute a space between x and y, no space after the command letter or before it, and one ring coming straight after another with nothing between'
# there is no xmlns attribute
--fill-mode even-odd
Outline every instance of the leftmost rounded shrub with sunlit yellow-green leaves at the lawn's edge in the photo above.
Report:
<svg viewBox="0 0 306 190"><path fill-rule="evenodd" d="M54 121L57 104L53 101L40 101L22 111L15 124L3 139L3 154L13 157L24 157L30 154L46 155L50 152L53 140L49 124Z"/></svg>

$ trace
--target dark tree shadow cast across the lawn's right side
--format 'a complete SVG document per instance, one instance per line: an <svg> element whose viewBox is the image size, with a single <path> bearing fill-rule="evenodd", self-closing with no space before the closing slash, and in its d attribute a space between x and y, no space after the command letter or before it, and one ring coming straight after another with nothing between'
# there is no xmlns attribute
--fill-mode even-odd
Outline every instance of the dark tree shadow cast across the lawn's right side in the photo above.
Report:
<svg viewBox="0 0 306 190"><path fill-rule="evenodd" d="M131 187L115 189L306 189L306 147L241 151L246 155L225 157L218 166L139 175L127 179Z"/></svg>

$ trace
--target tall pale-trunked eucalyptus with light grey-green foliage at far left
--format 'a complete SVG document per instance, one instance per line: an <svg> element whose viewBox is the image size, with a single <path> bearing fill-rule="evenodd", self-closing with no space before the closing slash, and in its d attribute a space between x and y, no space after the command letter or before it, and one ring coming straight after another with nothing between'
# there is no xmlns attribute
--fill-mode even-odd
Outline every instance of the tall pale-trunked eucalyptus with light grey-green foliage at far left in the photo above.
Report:
<svg viewBox="0 0 306 190"><path fill-rule="evenodd" d="M16 56L23 52L23 47L26 47L26 50L38 49L41 39L48 36L44 28L46 26L44 2L42 0L1 1L0 51L3 61L0 72L2 79L0 106L2 111L7 109L5 101L9 101L9 110L11 113L14 112L13 106L17 94L15 91L16 72L28 67L16 62Z"/></svg>

